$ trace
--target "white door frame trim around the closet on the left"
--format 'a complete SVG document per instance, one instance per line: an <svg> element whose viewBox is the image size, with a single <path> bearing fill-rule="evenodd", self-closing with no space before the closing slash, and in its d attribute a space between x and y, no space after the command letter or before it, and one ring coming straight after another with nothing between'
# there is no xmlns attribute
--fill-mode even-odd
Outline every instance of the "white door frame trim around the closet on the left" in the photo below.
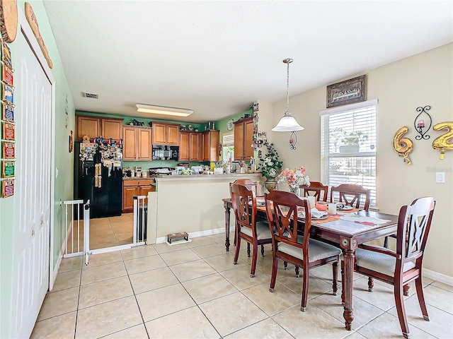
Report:
<svg viewBox="0 0 453 339"><path fill-rule="evenodd" d="M23 11L18 11L18 23L19 23L19 32L18 34L23 34L25 40L28 41L29 46L32 49L33 54L35 54L36 59L40 63L42 67L42 71L44 71L45 76L49 79L50 86L52 88L52 98L51 98L51 126L50 126L50 143L51 143L51 150L50 150L50 230L49 230L49 290L52 290L53 285L55 283L55 278L57 275L54 274L54 228L55 228L55 78L53 77L52 70L50 69L49 65L47 64L47 60L42 53L41 47L38 44L38 40L36 40L33 31L30 28L30 24L25 18L25 13ZM61 204L61 203L60 203ZM59 262L57 263L59 266Z"/></svg>

